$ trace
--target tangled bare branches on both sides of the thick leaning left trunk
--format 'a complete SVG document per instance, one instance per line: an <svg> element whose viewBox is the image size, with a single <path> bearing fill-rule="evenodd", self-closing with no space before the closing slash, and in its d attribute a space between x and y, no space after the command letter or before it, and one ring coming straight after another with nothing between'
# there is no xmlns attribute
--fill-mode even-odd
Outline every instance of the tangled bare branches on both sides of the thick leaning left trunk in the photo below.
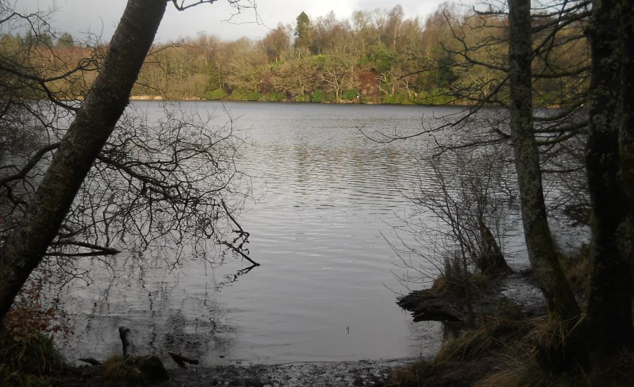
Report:
<svg viewBox="0 0 634 387"><path fill-rule="evenodd" d="M0 244L22 219L80 104L63 100L67 89L58 84L73 87L80 82L75 77L97 68L97 50L70 70L58 57L57 67L35 66L32 61L41 55L30 50L46 49L37 36L31 46L0 54ZM167 247L167 254L172 248L182 252L184 245L198 254L214 244L256 263L245 248L249 234L234 215L250 188L235 168L242 140L233 134L232 118L216 125L213 116L167 106L163 114L156 120L130 109L120 120L46 252L44 266L65 264L58 273L67 276L78 273L72 262L77 257L151 247Z"/></svg>

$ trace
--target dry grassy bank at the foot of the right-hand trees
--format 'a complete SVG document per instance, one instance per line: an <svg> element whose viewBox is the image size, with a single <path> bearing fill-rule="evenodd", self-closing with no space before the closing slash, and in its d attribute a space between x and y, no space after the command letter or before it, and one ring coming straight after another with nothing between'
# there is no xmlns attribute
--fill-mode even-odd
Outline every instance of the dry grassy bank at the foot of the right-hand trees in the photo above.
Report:
<svg viewBox="0 0 634 387"><path fill-rule="evenodd" d="M561 263L573 290L585 294L589 248L562 257ZM456 287L464 283L462 273L449 275L453 277L438 278L434 290L464 294ZM634 386L632 350L604 359L588 371L583 318L574 323L547 317L526 320L512 302L501 302L498 309L496 317L482 317L470 330L446 340L433 362L395 369L389 379L392 384L386 386Z"/></svg>

